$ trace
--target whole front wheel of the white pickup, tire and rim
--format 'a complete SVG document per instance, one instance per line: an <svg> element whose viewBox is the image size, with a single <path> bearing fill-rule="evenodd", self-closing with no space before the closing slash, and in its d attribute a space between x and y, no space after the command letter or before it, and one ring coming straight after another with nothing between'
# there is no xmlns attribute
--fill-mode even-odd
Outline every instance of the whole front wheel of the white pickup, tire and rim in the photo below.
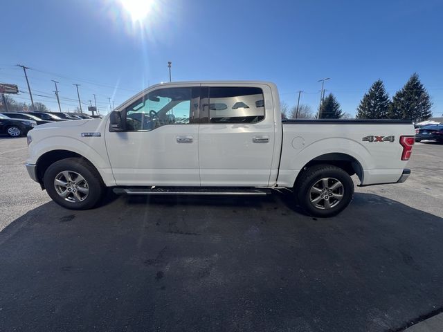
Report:
<svg viewBox="0 0 443 332"><path fill-rule="evenodd" d="M65 172L67 176L62 172ZM84 181L78 180L80 178L76 174L82 176ZM72 180L72 183L55 185L56 177L60 183L69 183L69 179ZM51 199L63 208L70 210L91 209L105 194L105 185L100 174L90 163L81 158L66 158L56 161L46 169L43 182ZM65 191L63 191L64 189ZM84 193L86 191L87 194Z"/></svg>

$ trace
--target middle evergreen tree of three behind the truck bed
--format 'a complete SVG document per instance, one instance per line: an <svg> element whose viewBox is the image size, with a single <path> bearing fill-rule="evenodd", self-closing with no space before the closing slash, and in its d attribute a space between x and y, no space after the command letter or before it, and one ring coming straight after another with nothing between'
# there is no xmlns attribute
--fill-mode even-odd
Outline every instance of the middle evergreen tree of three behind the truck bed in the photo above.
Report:
<svg viewBox="0 0 443 332"><path fill-rule="evenodd" d="M377 80L369 91L363 95L357 107L357 119L386 119L390 107L389 95L386 93L383 81Z"/></svg>

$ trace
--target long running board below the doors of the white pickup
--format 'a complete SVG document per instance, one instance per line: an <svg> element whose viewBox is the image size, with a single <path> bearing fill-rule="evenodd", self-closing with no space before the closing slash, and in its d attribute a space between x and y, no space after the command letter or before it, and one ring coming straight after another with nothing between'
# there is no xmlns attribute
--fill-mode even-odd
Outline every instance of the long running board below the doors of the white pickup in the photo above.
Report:
<svg viewBox="0 0 443 332"><path fill-rule="evenodd" d="M117 187L116 194L127 195L229 195L229 196L266 196L269 189L257 188L211 188L211 187Z"/></svg>

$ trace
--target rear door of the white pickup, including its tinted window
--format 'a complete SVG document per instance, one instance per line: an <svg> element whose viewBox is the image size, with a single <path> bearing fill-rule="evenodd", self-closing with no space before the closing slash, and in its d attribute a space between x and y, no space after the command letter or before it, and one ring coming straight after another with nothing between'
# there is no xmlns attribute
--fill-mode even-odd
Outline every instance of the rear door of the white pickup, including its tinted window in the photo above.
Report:
<svg viewBox="0 0 443 332"><path fill-rule="evenodd" d="M268 185L275 140L271 88L262 84L207 84L203 91L201 185Z"/></svg>

